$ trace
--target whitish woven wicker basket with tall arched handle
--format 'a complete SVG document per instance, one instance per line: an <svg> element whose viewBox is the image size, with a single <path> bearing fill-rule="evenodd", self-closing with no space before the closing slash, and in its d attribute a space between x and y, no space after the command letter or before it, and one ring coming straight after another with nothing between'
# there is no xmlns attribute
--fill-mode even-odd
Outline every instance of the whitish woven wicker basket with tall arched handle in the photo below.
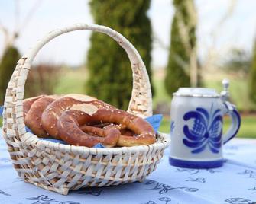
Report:
<svg viewBox="0 0 256 204"><path fill-rule="evenodd" d="M131 61L133 90L128 112L151 116L151 86L141 56L125 37L109 27L75 24L54 30L28 54L22 56L5 96L3 132L18 175L25 181L66 195L69 190L86 186L109 186L143 180L155 170L170 140L157 134L153 145L122 148L86 148L62 145L38 139L26 132L23 117L24 84L37 52L54 37L73 30L94 30L112 37L122 46Z"/></svg>

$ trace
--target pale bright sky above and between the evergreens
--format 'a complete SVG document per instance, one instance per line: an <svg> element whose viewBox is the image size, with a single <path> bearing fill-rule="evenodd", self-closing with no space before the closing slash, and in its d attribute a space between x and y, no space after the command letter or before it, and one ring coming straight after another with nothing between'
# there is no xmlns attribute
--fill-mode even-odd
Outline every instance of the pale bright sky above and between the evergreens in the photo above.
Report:
<svg viewBox="0 0 256 204"><path fill-rule="evenodd" d="M0 24L10 32L13 31L15 24L21 27L21 35L15 42L21 54L26 53L37 39L44 37L50 30L76 23L93 24L89 0L35 2L34 0L0 0ZM17 4L20 9L15 12ZM228 56L232 48L251 52L254 40L256 40L256 1L196 0L195 4L198 15L196 36L200 60L206 60L209 51L216 54L217 60ZM26 19L31 8L35 8L31 18ZM232 12L228 12L230 10ZM15 18L15 13L19 18ZM174 10L170 0L151 0L151 8L147 15L151 19L154 34L151 53L154 68L167 65L167 48L170 46L170 25L173 14ZM229 15L225 18L227 14ZM81 65L86 62L90 34L90 31L83 31L66 33L57 37L41 49L35 63ZM4 37L0 33L0 53L3 42Z"/></svg>

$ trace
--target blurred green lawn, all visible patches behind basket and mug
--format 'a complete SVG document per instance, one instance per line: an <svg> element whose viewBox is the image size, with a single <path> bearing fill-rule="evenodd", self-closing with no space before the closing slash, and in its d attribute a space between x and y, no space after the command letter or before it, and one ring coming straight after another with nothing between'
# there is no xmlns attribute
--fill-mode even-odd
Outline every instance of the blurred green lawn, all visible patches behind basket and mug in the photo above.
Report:
<svg viewBox="0 0 256 204"><path fill-rule="evenodd" d="M61 80L58 81L54 92L56 94L67 94L67 93L84 93L84 86L88 77L85 69L66 69L61 74ZM220 75L219 77L212 78L211 76L206 77L205 86L209 88L215 88L217 91L222 91L222 78L226 78L226 75ZM228 76L230 78L230 76ZM210 79L210 80L209 80ZM154 72L154 88L155 95L153 100L153 107L156 107L159 103L167 103L170 105L171 98L167 95L164 89L163 74ZM247 81L242 78L231 78L230 92L232 96L232 102L238 106L239 110L251 110L255 109L254 105L248 99ZM238 137L244 138L255 138L256 139L256 115L243 114L241 116L241 129L238 132ZM0 121L2 122L2 121ZM225 117L224 132L228 128L230 119ZM170 132L170 117L164 116L164 120L160 126L161 132Z"/></svg>

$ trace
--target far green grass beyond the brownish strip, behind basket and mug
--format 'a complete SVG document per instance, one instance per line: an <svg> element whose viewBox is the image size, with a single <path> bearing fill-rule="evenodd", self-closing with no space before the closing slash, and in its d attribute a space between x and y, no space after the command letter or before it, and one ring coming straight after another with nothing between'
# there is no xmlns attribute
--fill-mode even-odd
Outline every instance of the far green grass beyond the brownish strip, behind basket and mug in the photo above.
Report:
<svg viewBox="0 0 256 204"><path fill-rule="evenodd" d="M61 80L58 81L54 93L85 93L84 88L87 77L86 69L65 69L61 72ZM210 80L207 78L210 78ZM238 107L238 110L256 110L256 105L249 100L247 80L245 78L234 77L223 73L218 77L215 76L215 78L209 76L207 78L204 81L205 87L215 88L218 92L222 91L222 78L229 78L232 103ZM155 88L153 107L163 102L170 104L171 97L165 91L162 77L154 75L153 83Z"/></svg>

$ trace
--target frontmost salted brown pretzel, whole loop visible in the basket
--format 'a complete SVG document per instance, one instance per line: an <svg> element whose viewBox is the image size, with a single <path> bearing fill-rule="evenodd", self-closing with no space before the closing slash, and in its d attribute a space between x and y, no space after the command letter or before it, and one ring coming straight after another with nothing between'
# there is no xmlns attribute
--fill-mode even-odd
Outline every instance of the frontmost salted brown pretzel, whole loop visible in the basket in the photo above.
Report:
<svg viewBox="0 0 256 204"><path fill-rule="evenodd" d="M92 147L101 142L103 145L109 146L109 144L105 142L107 137L108 139L111 138L111 135L108 134L109 132L105 132L109 129L109 126L106 126L103 130L97 127L89 128L88 126L82 126L82 129L79 128L79 126L86 123L99 122L118 124L120 126L110 125L110 127L115 127L116 130L125 128L135 133L134 136L121 135L121 133L119 133L118 141L115 144L117 146L150 145L156 141L154 129L147 121L138 116L131 115L124 110L105 107L98 108L93 104L76 104L70 107L70 110L65 111L60 116L57 129L60 138L70 145ZM83 132L85 130L99 135L100 137L89 135ZM114 140L115 139L112 139L112 141ZM114 145L114 143L111 145Z"/></svg>

